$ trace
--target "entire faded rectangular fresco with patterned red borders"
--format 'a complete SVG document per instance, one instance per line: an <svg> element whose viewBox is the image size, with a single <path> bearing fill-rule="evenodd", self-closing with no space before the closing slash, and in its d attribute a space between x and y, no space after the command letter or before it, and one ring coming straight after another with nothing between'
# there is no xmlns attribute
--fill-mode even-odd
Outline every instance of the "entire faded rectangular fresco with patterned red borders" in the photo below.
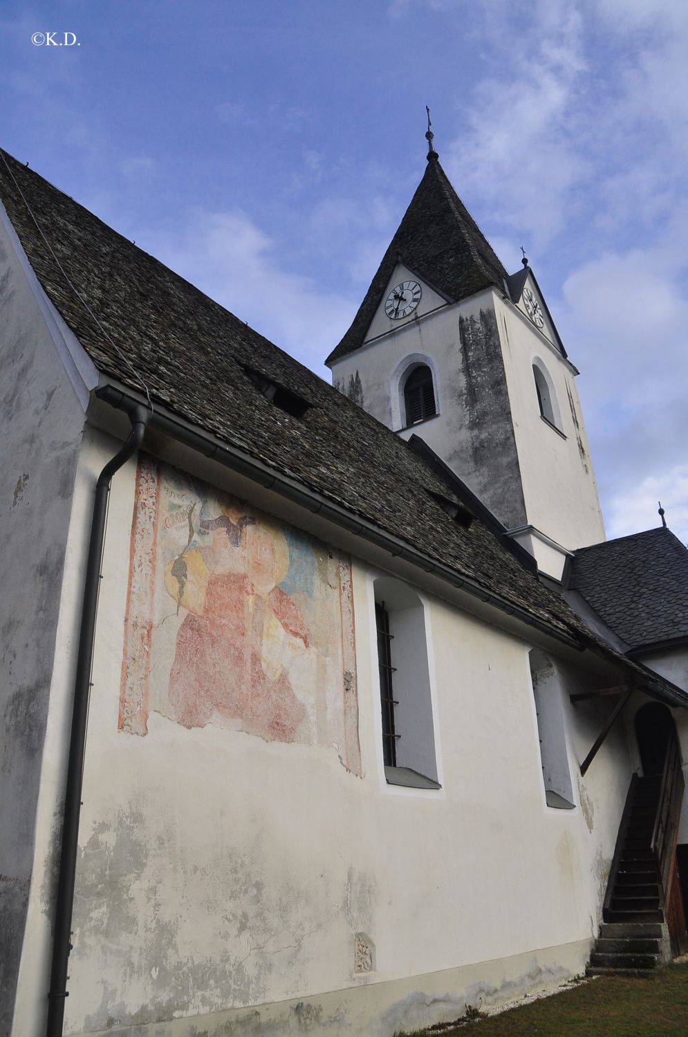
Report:
<svg viewBox="0 0 688 1037"><path fill-rule="evenodd" d="M120 730L151 711L334 747L361 774L349 559L142 454Z"/></svg>

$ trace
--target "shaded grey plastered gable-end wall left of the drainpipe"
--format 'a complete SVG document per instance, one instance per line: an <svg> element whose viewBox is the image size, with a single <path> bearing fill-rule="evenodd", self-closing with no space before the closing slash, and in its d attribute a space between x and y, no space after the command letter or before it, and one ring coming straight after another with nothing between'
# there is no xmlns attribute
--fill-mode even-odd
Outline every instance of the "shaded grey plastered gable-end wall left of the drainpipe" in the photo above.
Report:
<svg viewBox="0 0 688 1037"><path fill-rule="evenodd" d="M84 410L96 375L39 287L0 205L0 1033L9 1032L32 904L34 856L59 824L42 778L60 770L49 703ZM30 1031L24 1030L24 1034Z"/></svg>

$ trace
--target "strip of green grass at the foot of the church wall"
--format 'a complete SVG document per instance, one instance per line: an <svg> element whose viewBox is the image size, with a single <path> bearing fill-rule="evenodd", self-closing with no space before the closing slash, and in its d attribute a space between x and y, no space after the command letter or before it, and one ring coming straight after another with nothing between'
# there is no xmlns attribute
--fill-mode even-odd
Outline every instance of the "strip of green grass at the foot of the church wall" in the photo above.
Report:
<svg viewBox="0 0 688 1037"><path fill-rule="evenodd" d="M688 1037L688 964L669 964L648 978L603 976L441 1033L442 1037ZM432 1030L415 1030L398 1037L430 1034Z"/></svg>

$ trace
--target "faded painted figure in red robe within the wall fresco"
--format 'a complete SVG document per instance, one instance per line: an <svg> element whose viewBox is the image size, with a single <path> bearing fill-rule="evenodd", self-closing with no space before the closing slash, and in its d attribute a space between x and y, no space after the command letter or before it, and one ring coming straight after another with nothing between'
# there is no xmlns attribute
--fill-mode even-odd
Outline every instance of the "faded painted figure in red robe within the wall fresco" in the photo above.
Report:
<svg viewBox="0 0 688 1037"><path fill-rule="evenodd" d="M190 509L190 544L166 567L168 593L177 610L188 610L169 703L184 727L201 727L219 713L265 738L293 741L306 710L283 657L287 645L308 649L309 633L279 586L289 567L287 540L234 504L221 508L198 520Z"/></svg>

